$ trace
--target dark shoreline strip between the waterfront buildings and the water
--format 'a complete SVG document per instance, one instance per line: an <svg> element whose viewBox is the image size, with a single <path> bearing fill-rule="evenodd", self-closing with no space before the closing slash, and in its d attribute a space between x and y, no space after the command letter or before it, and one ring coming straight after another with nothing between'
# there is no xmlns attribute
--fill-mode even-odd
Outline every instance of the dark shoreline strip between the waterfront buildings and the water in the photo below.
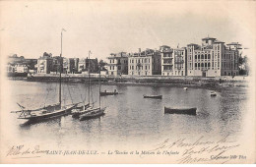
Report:
<svg viewBox="0 0 256 167"><path fill-rule="evenodd" d="M57 75L36 75L27 78L8 78L13 81L26 81L26 82L43 82L43 83L56 83L59 82ZM238 79L238 80L237 80ZM123 78L100 78L102 85L131 85L131 86L155 86L155 87L191 87L191 88L206 88L222 90L227 87L248 87L248 77L221 77L221 78L199 78L199 77L123 77ZM85 75L70 76L63 75L62 83L88 83L88 77ZM92 76L91 83L98 83L98 76Z"/></svg>

